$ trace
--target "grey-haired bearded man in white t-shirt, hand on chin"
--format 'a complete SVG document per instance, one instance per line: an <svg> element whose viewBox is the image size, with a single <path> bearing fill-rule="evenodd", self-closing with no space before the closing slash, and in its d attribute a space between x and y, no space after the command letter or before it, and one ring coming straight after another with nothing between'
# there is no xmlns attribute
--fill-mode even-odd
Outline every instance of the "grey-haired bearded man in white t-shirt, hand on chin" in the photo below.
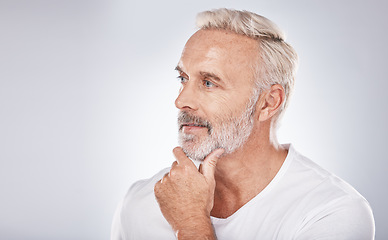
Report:
<svg viewBox="0 0 388 240"><path fill-rule="evenodd" d="M130 188L112 239L373 239L368 202L277 142L297 64L281 31L228 9L197 25L176 67L176 161Z"/></svg>

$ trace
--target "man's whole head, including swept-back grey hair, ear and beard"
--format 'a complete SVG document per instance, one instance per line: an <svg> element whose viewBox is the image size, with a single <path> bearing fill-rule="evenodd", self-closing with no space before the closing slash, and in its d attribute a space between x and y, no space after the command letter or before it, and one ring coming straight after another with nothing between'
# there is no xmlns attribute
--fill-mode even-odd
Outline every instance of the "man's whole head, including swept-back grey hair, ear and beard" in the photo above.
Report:
<svg viewBox="0 0 388 240"><path fill-rule="evenodd" d="M186 43L177 66L182 89L176 106L181 146L200 160L215 148L231 153L241 147L255 121L276 127L293 87L297 57L280 30L254 13L207 11L198 15L197 25L200 30ZM274 96L276 101L259 117L255 110L262 96L269 101L261 101L260 110Z"/></svg>

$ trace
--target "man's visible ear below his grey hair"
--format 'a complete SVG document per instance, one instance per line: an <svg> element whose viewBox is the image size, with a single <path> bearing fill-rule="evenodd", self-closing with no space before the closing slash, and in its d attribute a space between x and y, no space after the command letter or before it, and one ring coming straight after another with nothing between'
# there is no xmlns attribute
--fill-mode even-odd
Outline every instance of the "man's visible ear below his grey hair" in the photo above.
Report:
<svg viewBox="0 0 388 240"><path fill-rule="evenodd" d="M263 92L261 98L259 121L266 121L272 118L282 106L285 99L284 89L282 85L274 84Z"/></svg>

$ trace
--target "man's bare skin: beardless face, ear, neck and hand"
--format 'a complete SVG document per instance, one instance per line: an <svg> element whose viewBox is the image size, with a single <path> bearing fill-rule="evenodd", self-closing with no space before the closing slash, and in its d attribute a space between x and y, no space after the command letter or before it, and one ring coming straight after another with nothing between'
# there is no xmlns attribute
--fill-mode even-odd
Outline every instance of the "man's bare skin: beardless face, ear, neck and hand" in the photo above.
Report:
<svg viewBox="0 0 388 240"><path fill-rule="evenodd" d="M176 107L214 125L241 115L252 94L251 65L259 61L258 51L258 42L242 35L224 30L196 32L178 64L182 88ZM211 73L210 77L204 73ZM199 171L182 148L174 149L176 161L156 183L155 196L178 239L216 239L210 216L231 216L274 178L287 155L287 150L270 137L271 119L284 96L277 84L264 91L256 103L253 130L245 144L230 154L222 155L222 149L213 151ZM203 127L182 131L198 138L208 134Z"/></svg>

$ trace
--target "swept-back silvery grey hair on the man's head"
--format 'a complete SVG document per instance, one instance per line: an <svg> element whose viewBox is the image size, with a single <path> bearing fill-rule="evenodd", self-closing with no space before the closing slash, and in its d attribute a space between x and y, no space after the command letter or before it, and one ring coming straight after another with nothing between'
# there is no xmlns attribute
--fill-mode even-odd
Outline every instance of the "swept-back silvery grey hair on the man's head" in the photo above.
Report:
<svg viewBox="0 0 388 240"><path fill-rule="evenodd" d="M274 84L280 84L285 92L285 100L272 121L273 127L276 128L278 119L288 105L298 65L297 54L291 45L285 42L284 33L263 16L225 8L199 13L197 27L228 30L259 42L260 62L253 66L256 76L254 93L258 97L263 90Z"/></svg>

